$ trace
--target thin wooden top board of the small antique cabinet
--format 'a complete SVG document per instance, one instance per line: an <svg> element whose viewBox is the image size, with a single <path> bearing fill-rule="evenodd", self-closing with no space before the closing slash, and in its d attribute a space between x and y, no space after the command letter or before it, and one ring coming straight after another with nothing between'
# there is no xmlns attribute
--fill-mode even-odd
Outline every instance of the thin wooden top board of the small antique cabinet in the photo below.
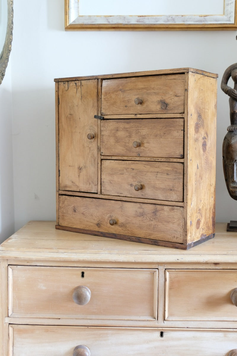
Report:
<svg viewBox="0 0 237 356"><path fill-rule="evenodd" d="M55 78L54 82L66 82L71 80L73 81L73 80L83 80L83 79L141 77L144 75L179 74L179 73L187 73L187 72L198 73L212 78L218 78L218 74L206 72L205 70L200 70L195 68L175 68L175 69L161 69L161 70L146 70L143 72L89 75L89 76L79 76L79 77L70 77L70 78Z"/></svg>

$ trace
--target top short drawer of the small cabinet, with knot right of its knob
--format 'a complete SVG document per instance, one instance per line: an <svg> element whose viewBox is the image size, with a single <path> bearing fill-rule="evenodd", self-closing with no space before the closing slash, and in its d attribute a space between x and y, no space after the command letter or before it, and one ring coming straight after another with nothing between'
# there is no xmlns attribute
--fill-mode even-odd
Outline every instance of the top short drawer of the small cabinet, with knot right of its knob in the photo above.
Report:
<svg viewBox="0 0 237 356"><path fill-rule="evenodd" d="M102 115L184 112L184 78L177 74L103 80Z"/></svg>

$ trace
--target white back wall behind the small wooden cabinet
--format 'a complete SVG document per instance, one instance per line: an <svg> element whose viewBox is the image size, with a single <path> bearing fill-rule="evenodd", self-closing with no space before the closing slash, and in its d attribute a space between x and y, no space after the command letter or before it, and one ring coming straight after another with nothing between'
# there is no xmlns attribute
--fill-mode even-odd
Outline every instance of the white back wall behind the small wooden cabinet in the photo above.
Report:
<svg viewBox="0 0 237 356"><path fill-rule="evenodd" d="M216 220L237 220L221 146L230 124L220 90L237 62L236 31L64 31L64 0L14 2L11 53L15 229L55 219L54 78L194 67L219 74Z"/></svg>

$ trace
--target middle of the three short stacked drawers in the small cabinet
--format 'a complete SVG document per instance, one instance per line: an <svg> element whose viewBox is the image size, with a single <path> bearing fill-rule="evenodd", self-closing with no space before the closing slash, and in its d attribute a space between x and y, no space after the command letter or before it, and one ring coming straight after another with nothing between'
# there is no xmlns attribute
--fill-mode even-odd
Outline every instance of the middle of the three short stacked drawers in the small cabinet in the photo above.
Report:
<svg viewBox="0 0 237 356"><path fill-rule="evenodd" d="M183 157L183 119L101 121L101 155Z"/></svg>

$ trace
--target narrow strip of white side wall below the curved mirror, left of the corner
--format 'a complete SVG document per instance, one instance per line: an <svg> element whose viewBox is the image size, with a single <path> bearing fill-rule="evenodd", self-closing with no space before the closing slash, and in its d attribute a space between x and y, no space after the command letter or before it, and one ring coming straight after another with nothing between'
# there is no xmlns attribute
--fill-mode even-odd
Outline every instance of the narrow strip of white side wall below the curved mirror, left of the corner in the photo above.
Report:
<svg viewBox="0 0 237 356"><path fill-rule="evenodd" d="M0 242L14 232L11 60L0 85Z"/></svg>

